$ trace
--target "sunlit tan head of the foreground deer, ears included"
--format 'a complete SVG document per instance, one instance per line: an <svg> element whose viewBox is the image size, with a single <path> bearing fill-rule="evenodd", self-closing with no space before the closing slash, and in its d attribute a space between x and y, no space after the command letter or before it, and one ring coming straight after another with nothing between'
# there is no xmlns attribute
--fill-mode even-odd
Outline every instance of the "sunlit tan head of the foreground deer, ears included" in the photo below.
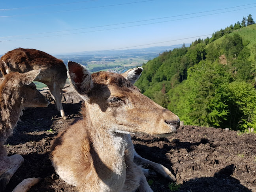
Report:
<svg viewBox="0 0 256 192"><path fill-rule="evenodd" d="M168 136L179 128L177 115L141 94L133 85L143 68L124 74L92 73L75 62L68 62L68 77L83 98L85 118L99 128L123 134L145 133Z"/></svg>

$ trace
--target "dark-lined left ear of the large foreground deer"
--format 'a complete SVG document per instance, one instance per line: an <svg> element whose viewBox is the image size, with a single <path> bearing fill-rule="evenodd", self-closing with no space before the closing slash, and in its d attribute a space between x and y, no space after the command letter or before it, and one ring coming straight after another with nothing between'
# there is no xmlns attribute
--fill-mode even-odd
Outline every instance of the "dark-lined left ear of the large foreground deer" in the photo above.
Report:
<svg viewBox="0 0 256 192"><path fill-rule="evenodd" d="M93 87L90 72L88 72L85 66L76 62L68 62L68 78L72 87L81 96L86 95Z"/></svg>

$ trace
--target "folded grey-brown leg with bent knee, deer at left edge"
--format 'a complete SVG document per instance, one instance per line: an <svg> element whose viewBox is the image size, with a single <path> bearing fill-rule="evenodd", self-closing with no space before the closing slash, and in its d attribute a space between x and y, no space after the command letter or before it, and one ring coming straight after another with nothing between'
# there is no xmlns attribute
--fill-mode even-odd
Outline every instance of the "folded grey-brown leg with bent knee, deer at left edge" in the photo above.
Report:
<svg viewBox="0 0 256 192"><path fill-rule="evenodd" d="M4 191L11 177L17 171L17 169L19 169L23 162L24 159L19 154L15 154L10 157L4 156L0 158L0 173L2 173L0 176L0 192Z"/></svg>

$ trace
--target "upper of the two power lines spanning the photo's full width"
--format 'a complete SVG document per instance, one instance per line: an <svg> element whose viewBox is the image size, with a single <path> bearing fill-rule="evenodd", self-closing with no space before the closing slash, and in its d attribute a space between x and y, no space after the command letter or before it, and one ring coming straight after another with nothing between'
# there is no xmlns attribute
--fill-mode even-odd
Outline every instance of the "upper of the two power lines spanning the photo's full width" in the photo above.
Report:
<svg viewBox="0 0 256 192"><path fill-rule="evenodd" d="M10 38L10 37L19 37L19 36L28 36L28 35L40 35L40 34L48 34L48 33L57 33L57 32L67 32L67 31L74 31L74 30L82 30L82 29L89 29L89 28L99 28L99 27L106 27L106 26L114 26L114 25L121 25L121 24L139 23L139 22L144 22L144 21L153 21L153 20L158 20L158 19L167 19L167 18L171 18L171 17L180 17L180 16L194 15L194 14L199 14L199 13L207 13L207 12L213 12L213 11L220 11L220 10L224 10L224 9L232 9L232 8L243 7L243 6L253 5L253 4L256 4L256 3L246 4L246 5L241 5L241 6L235 6L235 7L230 7L230 8L222 8L222 9L214 9L214 10L209 10L209 11L201 11L201 12L196 12L196 13L187 13L187 14L182 14L182 15L174 15L174 16L169 16L169 17L160 17L160 18L155 18L155 19L131 21L131 22L126 22L126 23L116 23L116 24L92 26L92 27L77 28L77 29L70 29L70 30L60 30L60 31L53 31L53 32L43 32L43 33L34 33L34 34L23 34L23 35L15 35L15 36L5 36L5 37L0 37L0 38ZM237 10L240 10L240 9L237 9ZM234 11L236 11L236 10L234 10Z"/></svg>

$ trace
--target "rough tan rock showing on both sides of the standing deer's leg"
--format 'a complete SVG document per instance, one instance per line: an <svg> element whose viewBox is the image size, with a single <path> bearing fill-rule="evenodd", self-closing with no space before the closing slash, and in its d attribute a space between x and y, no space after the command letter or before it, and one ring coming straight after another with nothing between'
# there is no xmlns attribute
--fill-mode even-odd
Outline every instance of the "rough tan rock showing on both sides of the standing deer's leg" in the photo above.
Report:
<svg viewBox="0 0 256 192"><path fill-rule="evenodd" d="M63 96L62 96L62 100L61 100L62 103L76 104L76 103L83 101L82 98L77 94L77 92L75 92L75 90L70 86L70 84L66 84L62 90L63 90ZM49 99L50 102L54 101L48 87L45 87L39 91L47 99Z"/></svg>

